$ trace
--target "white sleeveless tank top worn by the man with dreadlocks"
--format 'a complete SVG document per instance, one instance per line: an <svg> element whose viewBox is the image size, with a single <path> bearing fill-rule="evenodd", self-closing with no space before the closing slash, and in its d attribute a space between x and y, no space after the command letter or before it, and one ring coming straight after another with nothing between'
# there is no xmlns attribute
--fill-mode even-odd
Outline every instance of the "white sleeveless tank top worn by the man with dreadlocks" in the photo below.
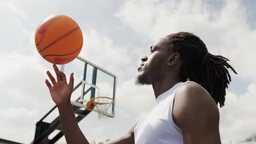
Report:
<svg viewBox="0 0 256 144"><path fill-rule="evenodd" d="M135 127L135 144L183 144L182 130L173 122L173 99L179 82L156 98L156 105Z"/></svg>

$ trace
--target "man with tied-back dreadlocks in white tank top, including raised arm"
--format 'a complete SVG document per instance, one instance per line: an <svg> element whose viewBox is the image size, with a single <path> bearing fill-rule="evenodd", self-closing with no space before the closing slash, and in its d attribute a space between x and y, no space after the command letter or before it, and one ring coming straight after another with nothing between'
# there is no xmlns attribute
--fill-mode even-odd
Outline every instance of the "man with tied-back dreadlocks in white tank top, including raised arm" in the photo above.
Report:
<svg viewBox="0 0 256 144"><path fill-rule="evenodd" d="M160 39L141 58L138 85L152 85L156 105L119 139L106 143L220 144L219 112L231 81L228 59L208 52L194 34L179 32ZM67 143L89 143L71 109L73 73L66 76L54 65L57 81L45 80L60 113ZM138 95L139 97L139 95ZM136 103L136 101L135 101Z"/></svg>

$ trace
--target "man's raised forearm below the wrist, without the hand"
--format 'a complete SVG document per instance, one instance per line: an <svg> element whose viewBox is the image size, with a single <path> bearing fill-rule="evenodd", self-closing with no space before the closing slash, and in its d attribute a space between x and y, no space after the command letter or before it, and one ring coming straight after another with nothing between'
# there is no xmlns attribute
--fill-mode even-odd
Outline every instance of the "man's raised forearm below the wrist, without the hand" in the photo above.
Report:
<svg viewBox="0 0 256 144"><path fill-rule="evenodd" d="M65 104L58 106L60 113L62 130L65 135L67 143L88 143L84 134L80 130L77 119L75 119L74 112L71 108L71 104Z"/></svg>

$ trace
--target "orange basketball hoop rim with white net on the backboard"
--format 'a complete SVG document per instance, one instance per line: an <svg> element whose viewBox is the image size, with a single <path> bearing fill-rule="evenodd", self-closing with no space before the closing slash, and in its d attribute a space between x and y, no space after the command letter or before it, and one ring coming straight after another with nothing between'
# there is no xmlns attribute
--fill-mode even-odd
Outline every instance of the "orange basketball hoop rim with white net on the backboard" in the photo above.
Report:
<svg viewBox="0 0 256 144"><path fill-rule="evenodd" d="M92 103L92 104L89 104ZM88 106L90 107L96 106L98 111L98 119L107 118L108 109L111 104L114 103L114 99L108 97L94 97L90 101L88 101ZM92 106L94 105L94 106Z"/></svg>

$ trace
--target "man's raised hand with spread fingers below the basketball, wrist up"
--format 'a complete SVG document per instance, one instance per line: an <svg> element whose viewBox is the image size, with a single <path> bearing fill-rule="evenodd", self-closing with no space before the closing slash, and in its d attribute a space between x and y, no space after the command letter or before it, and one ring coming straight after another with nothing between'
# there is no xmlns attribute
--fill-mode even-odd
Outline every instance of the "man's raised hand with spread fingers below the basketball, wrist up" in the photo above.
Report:
<svg viewBox="0 0 256 144"><path fill-rule="evenodd" d="M50 71L46 71L46 73L49 76L49 79L53 83L53 85L51 85L51 83L47 79L45 80L45 83L49 88L51 98L57 106L60 106L62 104L68 104L70 103L70 98L73 91L74 74L72 73L70 75L69 83L67 84L66 75L62 71L59 71L55 64L53 65L53 68L57 77L57 81L55 80L53 75L51 75Z"/></svg>

